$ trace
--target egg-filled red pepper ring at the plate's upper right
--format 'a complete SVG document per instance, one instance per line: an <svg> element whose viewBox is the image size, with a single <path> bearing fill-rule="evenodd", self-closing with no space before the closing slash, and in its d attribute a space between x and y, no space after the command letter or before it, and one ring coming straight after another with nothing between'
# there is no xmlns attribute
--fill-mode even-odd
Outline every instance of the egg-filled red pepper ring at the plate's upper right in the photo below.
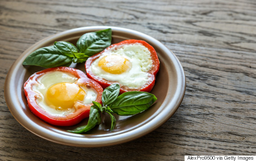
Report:
<svg viewBox="0 0 256 161"><path fill-rule="evenodd" d="M156 51L143 40L124 40L112 44L85 62L86 73L103 88L118 83L120 93L150 92L159 71Z"/></svg>

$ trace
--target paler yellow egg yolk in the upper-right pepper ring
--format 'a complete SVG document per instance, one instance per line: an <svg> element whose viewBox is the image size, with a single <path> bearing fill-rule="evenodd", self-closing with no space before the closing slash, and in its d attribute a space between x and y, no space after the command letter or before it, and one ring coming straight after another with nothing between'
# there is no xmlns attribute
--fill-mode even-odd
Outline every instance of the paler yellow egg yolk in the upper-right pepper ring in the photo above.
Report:
<svg viewBox="0 0 256 161"><path fill-rule="evenodd" d="M98 65L110 74L122 74L131 67L130 61L128 59L118 56L118 55L110 55L103 57Z"/></svg>

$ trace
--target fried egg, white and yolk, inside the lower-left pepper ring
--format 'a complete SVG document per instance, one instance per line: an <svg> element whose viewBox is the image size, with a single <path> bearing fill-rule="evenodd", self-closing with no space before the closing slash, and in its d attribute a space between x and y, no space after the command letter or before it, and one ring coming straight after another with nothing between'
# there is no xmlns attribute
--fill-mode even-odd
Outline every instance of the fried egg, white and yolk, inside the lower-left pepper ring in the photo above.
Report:
<svg viewBox="0 0 256 161"><path fill-rule="evenodd" d="M97 99L97 91L77 82L74 75L51 71L37 79L32 90L37 92L35 101L52 115L65 116L81 108L83 104L91 104Z"/></svg>

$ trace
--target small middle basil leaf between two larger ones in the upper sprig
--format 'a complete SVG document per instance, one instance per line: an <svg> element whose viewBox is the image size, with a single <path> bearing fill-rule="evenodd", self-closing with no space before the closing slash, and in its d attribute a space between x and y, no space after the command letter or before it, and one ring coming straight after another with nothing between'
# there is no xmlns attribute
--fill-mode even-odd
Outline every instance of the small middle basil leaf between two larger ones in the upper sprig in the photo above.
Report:
<svg viewBox="0 0 256 161"><path fill-rule="evenodd" d="M77 53L77 48L75 45L66 41L55 42L54 47L57 48L62 55L66 55L68 57L74 57L74 53Z"/></svg>

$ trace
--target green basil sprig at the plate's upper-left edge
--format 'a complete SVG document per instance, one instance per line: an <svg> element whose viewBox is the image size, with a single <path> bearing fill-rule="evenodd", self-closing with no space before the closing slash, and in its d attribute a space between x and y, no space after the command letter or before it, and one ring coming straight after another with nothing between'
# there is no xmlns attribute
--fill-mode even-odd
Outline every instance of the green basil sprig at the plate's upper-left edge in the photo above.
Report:
<svg viewBox="0 0 256 161"><path fill-rule="evenodd" d="M39 48L23 61L23 65L36 65L44 68L69 66L72 62L81 63L111 44L111 29L89 32L82 35L75 45L58 41L53 46Z"/></svg>

